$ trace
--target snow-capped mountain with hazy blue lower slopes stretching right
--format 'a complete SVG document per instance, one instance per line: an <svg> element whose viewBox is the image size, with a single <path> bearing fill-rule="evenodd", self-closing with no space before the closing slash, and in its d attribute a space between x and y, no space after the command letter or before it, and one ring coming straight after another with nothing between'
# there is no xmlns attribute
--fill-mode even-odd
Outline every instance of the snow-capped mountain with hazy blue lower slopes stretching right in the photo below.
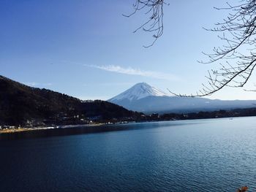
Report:
<svg viewBox="0 0 256 192"><path fill-rule="evenodd" d="M255 107L254 100L224 101L219 99L170 96L140 82L108 101L138 112L196 112Z"/></svg>

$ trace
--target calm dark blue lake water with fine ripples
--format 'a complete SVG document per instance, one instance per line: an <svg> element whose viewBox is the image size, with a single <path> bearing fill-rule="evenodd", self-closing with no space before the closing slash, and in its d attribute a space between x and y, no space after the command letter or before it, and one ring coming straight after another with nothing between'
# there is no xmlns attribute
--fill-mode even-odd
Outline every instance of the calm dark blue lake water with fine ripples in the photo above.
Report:
<svg viewBox="0 0 256 192"><path fill-rule="evenodd" d="M1 136L0 191L256 191L255 122L180 120Z"/></svg>

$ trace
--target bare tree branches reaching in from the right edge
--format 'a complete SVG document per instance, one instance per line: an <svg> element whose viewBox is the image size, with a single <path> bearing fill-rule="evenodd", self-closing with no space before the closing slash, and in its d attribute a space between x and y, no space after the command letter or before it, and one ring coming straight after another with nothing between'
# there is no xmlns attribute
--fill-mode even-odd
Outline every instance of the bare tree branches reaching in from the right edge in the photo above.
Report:
<svg viewBox="0 0 256 192"><path fill-rule="evenodd" d="M256 1L241 0L238 5L227 3L227 7L215 9L230 11L222 23L217 23L215 28L206 29L222 33L218 37L224 45L214 47L211 54L203 53L208 56L208 61L200 63L219 62L219 69L208 71L207 85L203 84L200 91L190 96L209 96L225 87L244 87L256 66Z"/></svg>

